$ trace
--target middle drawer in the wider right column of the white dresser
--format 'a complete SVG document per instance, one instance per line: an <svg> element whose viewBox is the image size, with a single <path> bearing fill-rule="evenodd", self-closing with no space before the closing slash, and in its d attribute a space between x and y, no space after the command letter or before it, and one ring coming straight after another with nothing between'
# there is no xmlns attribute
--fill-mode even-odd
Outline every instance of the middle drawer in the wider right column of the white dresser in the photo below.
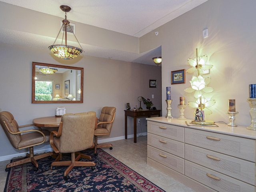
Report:
<svg viewBox="0 0 256 192"><path fill-rule="evenodd" d="M185 144L185 159L255 185L255 163Z"/></svg>

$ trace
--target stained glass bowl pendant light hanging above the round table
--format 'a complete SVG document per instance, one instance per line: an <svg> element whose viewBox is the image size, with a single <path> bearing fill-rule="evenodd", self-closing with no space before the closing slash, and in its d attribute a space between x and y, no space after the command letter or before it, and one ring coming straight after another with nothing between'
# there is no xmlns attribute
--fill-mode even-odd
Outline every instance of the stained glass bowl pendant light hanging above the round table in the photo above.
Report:
<svg viewBox="0 0 256 192"><path fill-rule="evenodd" d="M60 28L60 31L62 30L62 28L64 27L65 29L65 45L61 44L61 45L55 45L55 42L60 34L60 31L54 41L54 43L48 47L48 49L58 58L61 59L72 59L72 58L76 58L78 55L80 55L80 53L83 52L82 46L80 45L80 43L78 42L76 35L74 34L73 30L72 33L74 34L76 41L78 42L80 48L74 47L74 46L69 46L67 45L67 27L69 26L69 21L67 20L67 12L70 12L71 8L67 5L61 5L60 9L62 11L65 12L65 19L62 20L62 26ZM62 42L63 42L63 38L64 38L64 34L62 36Z"/></svg>

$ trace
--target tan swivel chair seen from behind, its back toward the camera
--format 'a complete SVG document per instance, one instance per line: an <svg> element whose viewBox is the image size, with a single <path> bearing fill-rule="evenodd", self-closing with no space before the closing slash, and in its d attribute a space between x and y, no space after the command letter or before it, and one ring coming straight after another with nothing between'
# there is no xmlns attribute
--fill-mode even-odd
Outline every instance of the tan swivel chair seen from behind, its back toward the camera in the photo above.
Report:
<svg viewBox="0 0 256 192"><path fill-rule="evenodd" d="M76 152L92 146L95 120L96 112L64 114L61 118L58 132L51 132L50 145L54 152L59 154L56 160L52 162L51 169L54 169L54 166L68 166L64 172L65 180L70 178L68 173L74 166L95 166L94 162L78 161L81 158L81 154L76 156ZM71 153L71 160L60 161L62 159L62 153ZM91 159L88 155L83 155L83 158Z"/></svg>

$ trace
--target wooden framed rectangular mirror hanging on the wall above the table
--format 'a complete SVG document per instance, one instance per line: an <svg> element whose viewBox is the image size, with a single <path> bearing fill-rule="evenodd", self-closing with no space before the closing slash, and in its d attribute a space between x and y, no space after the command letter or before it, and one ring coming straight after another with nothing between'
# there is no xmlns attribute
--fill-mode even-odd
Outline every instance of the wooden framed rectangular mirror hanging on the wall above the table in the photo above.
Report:
<svg viewBox="0 0 256 192"><path fill-rule="evenodd" d="M83 93L84 68L32 62L32 103L83 103Z"/></svg>

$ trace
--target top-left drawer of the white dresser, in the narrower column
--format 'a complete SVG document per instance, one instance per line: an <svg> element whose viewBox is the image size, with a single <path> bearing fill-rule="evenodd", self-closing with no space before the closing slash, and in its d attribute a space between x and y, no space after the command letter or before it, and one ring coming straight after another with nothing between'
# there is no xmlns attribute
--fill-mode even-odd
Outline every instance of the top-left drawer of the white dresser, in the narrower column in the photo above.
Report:
<svg viewBox="0 0 256 192"><path fill-rule="evenodd" d="M148 121L148 132L184 142L184 127Z"/></svg>

